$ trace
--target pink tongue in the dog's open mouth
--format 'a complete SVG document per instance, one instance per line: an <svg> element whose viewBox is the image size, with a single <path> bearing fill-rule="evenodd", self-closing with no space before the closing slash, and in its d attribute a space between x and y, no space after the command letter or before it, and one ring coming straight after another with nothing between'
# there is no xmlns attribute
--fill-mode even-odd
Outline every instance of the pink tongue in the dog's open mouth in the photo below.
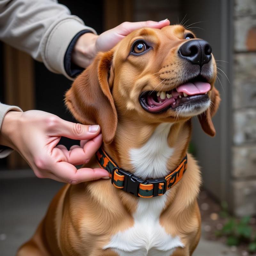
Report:
<svg viewBox="0 0 256 256"><path fill-rule="evenodd" d="M182 84L176 90L177 92L185 92L188 95L201 94L205 92L209 92L211 89L211 85L209 83L204 82L194 82Z"/></svg>

